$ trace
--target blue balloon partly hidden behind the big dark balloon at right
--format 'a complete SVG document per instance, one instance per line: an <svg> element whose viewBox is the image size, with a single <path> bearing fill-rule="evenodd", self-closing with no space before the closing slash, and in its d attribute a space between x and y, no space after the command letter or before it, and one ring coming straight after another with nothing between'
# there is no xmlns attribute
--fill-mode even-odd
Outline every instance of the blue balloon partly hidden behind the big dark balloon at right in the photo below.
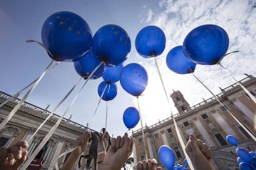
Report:
<svg viewBox="0 0 256 170"><path fill-rule="evenodd" d="M177 46L168 52L166 57L166 64L169 70L178 74L193 73L196 64L187 59L183 52L182 46Z"/></svg>

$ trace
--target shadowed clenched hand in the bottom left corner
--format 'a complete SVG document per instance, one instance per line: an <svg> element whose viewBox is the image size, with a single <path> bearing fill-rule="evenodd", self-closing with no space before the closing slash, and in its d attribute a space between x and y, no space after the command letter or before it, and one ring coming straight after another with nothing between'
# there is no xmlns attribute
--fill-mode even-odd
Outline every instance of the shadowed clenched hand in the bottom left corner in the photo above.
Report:
<svg viewBox="0 0 256 170"><path fill-rule="evenodd" d="M0 169L16 170L25 162L27 150L22 152L22 148L27 148L28 142L20 140L11 147L0 147Z"/></svg>

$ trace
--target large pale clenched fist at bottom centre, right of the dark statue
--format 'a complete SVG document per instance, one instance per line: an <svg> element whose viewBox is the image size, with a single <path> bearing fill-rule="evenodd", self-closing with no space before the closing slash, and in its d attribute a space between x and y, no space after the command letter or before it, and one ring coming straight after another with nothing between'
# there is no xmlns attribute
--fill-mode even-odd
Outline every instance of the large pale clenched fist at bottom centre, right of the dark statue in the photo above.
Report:
<svg viewBox="0 0 256 170"><path fill-rule="evenodd" d="M101 144L100 140L99 140L99 144ZM106 153L106 155L102 154L103 156L101 156L101 160L100 160L100 157L98 159L98 169L99 170L121 169L122 166L126 163L130 154L132 154L133 144L134 144L133 138L129 137L127 133L125 133L123 137L117 136L117 138L113 138L112 144L109 147L109 150Z"/></svg>

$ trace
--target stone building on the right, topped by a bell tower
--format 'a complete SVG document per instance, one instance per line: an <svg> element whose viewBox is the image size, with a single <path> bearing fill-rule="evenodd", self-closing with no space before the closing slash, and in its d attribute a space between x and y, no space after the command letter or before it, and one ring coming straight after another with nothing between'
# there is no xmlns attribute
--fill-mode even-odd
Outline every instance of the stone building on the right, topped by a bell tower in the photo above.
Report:
<svg viewBox="0 0 256 170"><path fill-rule="evenodd" d="M247 75L239 81L252 95L256 96L256 78ZM206 142L213 151L211 159L216 169L239 169L237 163L236 147L229 145L226 136L233 135L239 141L239 147L248 151L255 151L256 142L230 115L232 113L247 129L256 136L254 131L254 115L256 114L256 104L249 95L242 90L239 84L235 83L229 87L221 89L221 93L215 97L203 100L201 103L189 106L180 91L174 91L170 95L179 111L174 118L184 144L189 139L189 134L193 132L198 139ZM229 113L229 112L230 113ZM158 149L162 145L172 148L176 157L175 164L184 163L185 155L174 129L171 117L159 121L152 126L143 127L142 130L132 132L134 137L134 163L145 159L145 152L148 158L156 158L160 166L163 167L158 158ZM144 144L145 142L145 144ZM144 147L145 145L145 147ZM146 149L145 149L146 148Z"/></svg>

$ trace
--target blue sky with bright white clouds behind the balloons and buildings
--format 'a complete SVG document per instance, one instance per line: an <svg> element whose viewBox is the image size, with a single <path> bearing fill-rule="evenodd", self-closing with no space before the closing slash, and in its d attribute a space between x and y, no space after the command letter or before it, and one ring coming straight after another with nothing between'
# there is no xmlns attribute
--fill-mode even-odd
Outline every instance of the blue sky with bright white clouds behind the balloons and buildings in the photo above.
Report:
<svg viewBox="0 0 256 170"><path fill-rule="evenodd" d="M41 27L49 15L58 11L70 11L80 15L90 26L92 33L104 25L119 25L131 41L131 51L124 65L139 63L148 73L148 84L139 97L140 112L143 126L151 126L171 116L170 105L164 94L181 91L190 106L196 105L213 97L202 84L192 76L178 75L169 70L166 65L166 55L173 47L181 46L187 34L200 25L213 24L223 28L229 36L228 52L238 53L226 56L221 64L236 79L245 78L244 73L256 76L256 8L255 1L216 0L75 0L75 1L33 1L33 0L1 0L0 1L0 91L14 95L23 87L43 73L51 58L45 49L36 43L25 42L28 39L41 41ZM155 25L164 31L166 47L163 54L156 57L163 78L164 88L153 59L141 57L135 49L137 33L148 25ZM234 81L220 65L197 65L194 74L214 94L219 94L220 88L228 87ZM75 72L72 62L61 62L50 73L41 79L38 86L27 98L27 102L49 111L61 102L64 95L74 86L80 76ZM98 110L95 110L100 100L98 85L102 78L88 81L83 91L67 112L65 118L76 123L100 131L105 127L106 102L101 100ZM62 115L69 106L83 83L69 95L68 99L56 110ZM117 83L117 96L108 101L107 130L114 137L127 132L122 115L126 108L137 107L137 99L122 89ZM25 94L24 91L20 98ZM170 100L171 101L171 100ZM172 101L171 101L172 102ZM177 113L174 104L171 110ZM140 123L134 127L139 129ZM131 131L128 131L132 135Z"/></svg>

